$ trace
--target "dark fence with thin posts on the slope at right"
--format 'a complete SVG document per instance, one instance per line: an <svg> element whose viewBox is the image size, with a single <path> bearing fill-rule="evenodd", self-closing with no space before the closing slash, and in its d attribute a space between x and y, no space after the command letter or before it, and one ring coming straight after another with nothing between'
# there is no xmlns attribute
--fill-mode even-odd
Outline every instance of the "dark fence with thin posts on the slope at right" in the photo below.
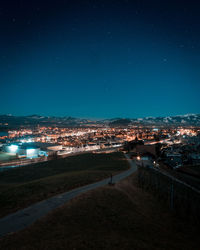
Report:
<svg viewBox="0 0 200 250"><path fill-rule="evenodd" d="M200 191L159 169L138 167L138 184L182 218L200 224Z"/></svg>

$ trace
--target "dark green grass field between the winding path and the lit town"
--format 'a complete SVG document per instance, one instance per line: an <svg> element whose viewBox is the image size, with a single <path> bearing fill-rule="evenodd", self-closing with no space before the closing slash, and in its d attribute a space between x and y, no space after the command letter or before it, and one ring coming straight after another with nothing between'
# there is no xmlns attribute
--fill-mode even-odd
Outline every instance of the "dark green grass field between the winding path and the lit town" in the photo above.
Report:
<svg viewBox="0 0 200 250"><path fill-rule="evenodd" d="M0 216L128 169L122 153L83 154L0 173Z"/></svg>

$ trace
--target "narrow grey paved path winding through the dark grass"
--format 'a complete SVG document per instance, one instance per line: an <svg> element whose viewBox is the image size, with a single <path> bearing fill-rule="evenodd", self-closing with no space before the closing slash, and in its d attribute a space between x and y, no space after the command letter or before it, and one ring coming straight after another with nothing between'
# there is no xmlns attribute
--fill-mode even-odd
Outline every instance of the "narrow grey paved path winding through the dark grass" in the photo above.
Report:
<svg viewBox="0 0 200 250"><path fill-rule="evenodd" d="M112 177L112 181L114 183L128 177L132 173L137 170L137 166L135 162L129 159L127 155L125 155L126 159L130 164L130 168L120 174L114 175ZM0 237L5 236L6 234L17 232L22 230L32 223L34 223L39 218L45 216L47 213L52 211L55 208L58 208L65 204L67 201L72 198L85 193L89 190L102 187L107 185L110 182L110 178L104 179L102 181L98 181L83 187L79 187L73 189L71 191L62 193L60 195L56 195L47 200L35 203L30 207L27 207L23 210L19 210L16 213L10 214L2 219L0 219Z"/></svg>

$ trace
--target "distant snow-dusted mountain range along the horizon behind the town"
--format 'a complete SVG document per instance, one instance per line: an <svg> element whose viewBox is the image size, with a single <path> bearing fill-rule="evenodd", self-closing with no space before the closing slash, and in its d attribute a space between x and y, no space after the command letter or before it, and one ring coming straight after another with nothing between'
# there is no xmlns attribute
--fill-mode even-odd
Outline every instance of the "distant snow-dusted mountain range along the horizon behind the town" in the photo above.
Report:
<svg viewBox="0 0 200 250"><path fill-rule="evenodd" d="M113 118L104 120L89 120L73 117L54 116L12 116L0 115L0 127L20 126L59 126L80 127L90 125L128 126L128 125L193 125L200 126L200 114L186 114L167 117L145 117L145 118Z"/></svg>

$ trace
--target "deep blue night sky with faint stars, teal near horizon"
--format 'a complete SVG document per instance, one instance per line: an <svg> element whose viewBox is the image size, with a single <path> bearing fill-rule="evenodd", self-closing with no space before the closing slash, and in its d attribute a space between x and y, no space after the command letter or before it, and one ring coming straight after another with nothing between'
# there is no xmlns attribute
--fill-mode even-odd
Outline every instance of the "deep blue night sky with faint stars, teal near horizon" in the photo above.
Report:
<svg viewBox="0 0 200 250"><path fill-rule="evenodd" d="M0 113L200 113L198 1L0 1Z"/></svg>

